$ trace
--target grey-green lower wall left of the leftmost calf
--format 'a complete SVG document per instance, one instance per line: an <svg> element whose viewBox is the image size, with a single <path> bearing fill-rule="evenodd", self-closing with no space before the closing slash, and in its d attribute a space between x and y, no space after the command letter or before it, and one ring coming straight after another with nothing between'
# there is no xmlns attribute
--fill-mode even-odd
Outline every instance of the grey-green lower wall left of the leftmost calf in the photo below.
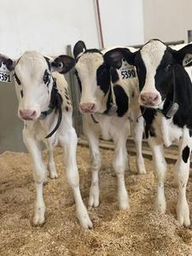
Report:
<svg viewBox="0 0 192 256"><path fill-rule="evenodd" d="M0 82L0 153L26 151L21 134L23 122L17 117L17 107L14 82Z"/></svg>

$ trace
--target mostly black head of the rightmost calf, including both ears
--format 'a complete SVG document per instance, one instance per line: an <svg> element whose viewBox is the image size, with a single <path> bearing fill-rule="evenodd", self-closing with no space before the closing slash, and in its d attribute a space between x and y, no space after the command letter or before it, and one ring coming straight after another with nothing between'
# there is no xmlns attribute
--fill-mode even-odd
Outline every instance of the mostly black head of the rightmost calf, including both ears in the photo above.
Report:
<svg viewBox="0 0 192 256"><path fill-rule="evenodd" d="M150 40L135 53L129 49L112 49L105 56L113 67L119 68L125 58L136 66L139 79L139 103L146 108L160 108L166 96L174 90L174 79L186 75L184 67L192 65L192 44L175 50L158 39ZM178 75L179 74L179 75Z"/></svg>

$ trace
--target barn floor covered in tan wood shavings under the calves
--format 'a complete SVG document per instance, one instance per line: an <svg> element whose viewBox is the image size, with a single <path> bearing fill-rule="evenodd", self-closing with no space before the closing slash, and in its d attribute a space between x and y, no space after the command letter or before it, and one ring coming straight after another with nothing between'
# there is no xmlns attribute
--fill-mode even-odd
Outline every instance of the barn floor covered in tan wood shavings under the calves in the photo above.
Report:
<svg viewBox="0 0 192 256"><path fill-rule="evenodd" d="M153 211L154 175L151 160L148 174L137 175L135 156L126 174L131 211L119 212L117 184L111 165L113 151L102 150L101 205L89 209L93 230L83 230L75 218L73 195L61 164L61 149L55 150L59 177L44 186L46 223L32 227L34 185L28 154L0 155L0 255L192 255L192 230L176 220L177 186L169 165L166 180L167 212ZM87 148L78 148L81 191L87 204L90 158ZM192 216L192 177L188 198Z"/></svg>

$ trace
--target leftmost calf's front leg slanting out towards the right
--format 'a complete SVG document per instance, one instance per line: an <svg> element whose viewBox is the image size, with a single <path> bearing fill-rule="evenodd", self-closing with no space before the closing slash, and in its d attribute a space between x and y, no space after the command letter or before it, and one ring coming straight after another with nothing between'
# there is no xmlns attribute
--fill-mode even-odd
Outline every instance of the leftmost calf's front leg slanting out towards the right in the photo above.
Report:
<svg viewBox="0 0 192 256"><path fill-rule="evenodd" d="M67 180L73 189L73 195L76 205L76 215L79 223L84 229L92 227L88 212L84 207L80 189L79 189L79 172L76 163L77 135L73 127L67 129L65 134L60 137L60 143L64 148L64 162L66 164Z"/></svg>

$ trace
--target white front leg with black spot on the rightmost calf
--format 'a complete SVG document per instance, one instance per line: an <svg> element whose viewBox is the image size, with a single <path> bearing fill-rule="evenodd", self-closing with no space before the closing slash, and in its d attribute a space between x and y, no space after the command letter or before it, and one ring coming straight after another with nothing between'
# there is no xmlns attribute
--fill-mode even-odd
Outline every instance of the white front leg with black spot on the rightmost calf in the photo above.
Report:
<svg viewBox="0 0 192 256"><path fill-rule="evenodd" d="M179 155L174 166L178 183L177 220L179 224L188 227L189 205L186 199L186 186L189 178L189 163L191 152L191 138L187 128L183 129L183 137L179 143Z"/></svg>

